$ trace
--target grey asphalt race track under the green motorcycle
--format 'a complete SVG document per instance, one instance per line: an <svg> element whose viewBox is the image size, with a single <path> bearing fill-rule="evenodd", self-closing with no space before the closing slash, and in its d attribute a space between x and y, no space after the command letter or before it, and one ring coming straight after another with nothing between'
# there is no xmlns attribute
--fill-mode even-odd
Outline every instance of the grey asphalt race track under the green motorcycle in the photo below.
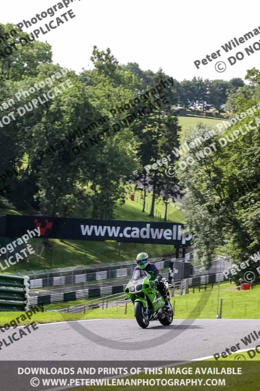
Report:
<svg viewBox="0 0 260 391"><path fill-rule="evenodd" d="M39 325L39 329L0 350L0 360L192 360L221 353L260 330L259 319L174 320L141 329L135 319L93 319ZM1 333L1 338L17 329ZM95 334L94 334L95 333ZM81 335L82 334L82 335Z"/></svg>

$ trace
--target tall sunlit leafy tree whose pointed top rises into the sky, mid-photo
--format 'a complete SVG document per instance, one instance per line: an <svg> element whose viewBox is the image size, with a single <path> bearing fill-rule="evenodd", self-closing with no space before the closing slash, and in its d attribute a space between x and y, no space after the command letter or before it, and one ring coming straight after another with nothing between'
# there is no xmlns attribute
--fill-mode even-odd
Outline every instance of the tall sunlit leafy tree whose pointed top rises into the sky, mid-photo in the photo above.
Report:
<svg viewBox="0 0 260 391"><path fill-rule="evenodd" d="M93 54L94 70L82 72L80 79L86 80L87 74L89 80L91 73L92 82L87 83L88 96L100 115L109 119L98 129L91 131L94 139L101 129L111 129L113 124L127 116L128 110L122 111L119 108L135 98L135 91L140 83L133 73L118 64L109 49L106 52L99 52L97 47L94 47ZM115 110L116 113L111 114L111 110ZM125 202L124 185L133 178L133 173L138 168L138 139L132 132L133 126L134 124L121 126L115 135L110 135L93 146L93 158L90 162L83 161L89 152L86 153L86 157L81 157L82 164L87 164L90 169L90 185L93 191L92 217L113 218L116 204Z"/></svg>

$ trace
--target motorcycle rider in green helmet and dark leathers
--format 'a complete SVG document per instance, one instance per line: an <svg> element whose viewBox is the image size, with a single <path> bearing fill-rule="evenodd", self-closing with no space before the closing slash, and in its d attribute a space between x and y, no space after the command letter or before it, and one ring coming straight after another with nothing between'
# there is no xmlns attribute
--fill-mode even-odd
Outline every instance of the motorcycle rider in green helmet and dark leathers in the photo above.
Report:
<svg viewBox="0 0 260 391"><path fill-rule="evenodd" d="M151 275L151 280L157 283L157 288L165 301L165 308L167 310L171 310L172 307L171 304L169 303L168 295L167 295L168 290L163 283L164 280L162 280L162 275L159 273L159 270L153 263L148 262L148 254L139 253L136 258L136 261L137 261L137 266L135 267L135 270L138 269L145 270L147 273Z"/></svg>

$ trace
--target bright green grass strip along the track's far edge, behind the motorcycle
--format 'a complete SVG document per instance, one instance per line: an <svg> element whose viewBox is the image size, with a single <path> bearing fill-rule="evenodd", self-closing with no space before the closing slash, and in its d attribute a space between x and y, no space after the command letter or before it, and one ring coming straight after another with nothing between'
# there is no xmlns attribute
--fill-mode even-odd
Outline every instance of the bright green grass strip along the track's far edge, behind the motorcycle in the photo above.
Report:
<svg viewBox="0 0 260 391"><path fill-rule="evenodd" d="M207 290L196 292L188 295L176 296L171 298L172 305L175 302L175 319L216 319L217 314L217 294L218 286L215 283L213 289L208 285ZM235 284L222 282L220 284L220 299L223 299L222 318L225 319L258 319L259 318L259 300L260 285L253 290L237 291ZM91 300L91 299L89 299ZM71 305L86 302L86 299L71 302ZM64 304L64 303L63 303ZM53 305L50 307L49 305ZM45 309L58 309L61 304L49 304ZM65 306L67 306L66 303ZM62 308L62 307L61 307ZM8 322L15 316L15 312L1 312L0 325L2 322ZM21 314L21 313L20 313ZM108 308L89 309L85 314L57 314L57 313L37 313L34 315L36 323L58 322L59 320L79 320L79 319L134 319L134 308L132 304L127 304L127 313L125 314L125 303L120 306ZM25 323L27 324L27 323Z"/></svg>

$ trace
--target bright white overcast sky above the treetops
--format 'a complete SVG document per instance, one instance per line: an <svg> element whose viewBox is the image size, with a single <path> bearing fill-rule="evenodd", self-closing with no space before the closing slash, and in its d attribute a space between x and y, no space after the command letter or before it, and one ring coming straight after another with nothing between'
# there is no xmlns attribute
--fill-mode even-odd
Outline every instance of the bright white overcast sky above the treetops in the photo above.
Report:
<svg viewBox="0 0 260 391"><path fill-rule="evenodd" d="M1 9L1 23L31 21L36 14L58 3L57 0L8 0ZM69 10L75 15L72 19ZM60 5L54 16L48 15L32 27L22 29L30 33L41 26L47 31L45 23L53 20L53 27L60 23L55 29L49 28L45 35L40 33L38 40L51 44L54 63L77 73L93 67L90 56L96 45L100 50L109 47L121 64L136 62L141 69L154 72L161 67L179 81L194 76L244 79L247 69L259 68L260 34L236 48L232 46L228 53L221 45L234 37L239 40L254 29L260 33L259 11L260 3L256 0L74 0L67 8L61 9ZM66 16L61 17L65 12ZM57 17L64 23L57 22ZM250 45L253 53L248 52L249 55L245 48ZM242 53L238 55L242 59L236 59L237 52ZM206 55L212 53L216 53L213 55L216 58L207 60ZM228 60L231 56L233 59ZM207 64L202 65L202 59ZM200 61L199 69L195 61Z"/></svg>

